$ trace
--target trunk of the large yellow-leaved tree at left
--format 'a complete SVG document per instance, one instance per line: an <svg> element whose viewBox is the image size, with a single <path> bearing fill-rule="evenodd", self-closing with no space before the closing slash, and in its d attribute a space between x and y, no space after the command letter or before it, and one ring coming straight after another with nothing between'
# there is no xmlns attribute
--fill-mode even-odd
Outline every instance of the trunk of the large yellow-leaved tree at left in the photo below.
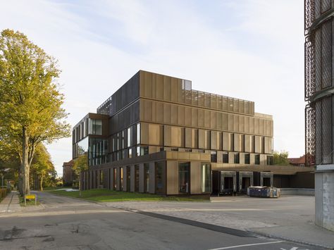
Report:
<svg viewBox="0 0 334 250"><path fill-rule="evenodd" d="M22 166L21 166L21 175L23 177L22 193L21 195L30 194L29 187L29 170L30 165L28 161L29 153L29 144L26 127L22 128Z"/></svg>

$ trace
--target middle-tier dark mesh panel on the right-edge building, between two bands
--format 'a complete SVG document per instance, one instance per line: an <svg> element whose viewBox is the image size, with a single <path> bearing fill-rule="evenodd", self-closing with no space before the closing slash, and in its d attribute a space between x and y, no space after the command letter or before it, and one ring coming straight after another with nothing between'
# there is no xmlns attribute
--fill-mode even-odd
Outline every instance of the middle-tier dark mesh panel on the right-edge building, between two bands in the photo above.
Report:
<svg viewBox="0 0 334 250"><path fill-rule="evenodd" d="M321 29L322 88L332 86L332 20L323 23Z"/></svg>

